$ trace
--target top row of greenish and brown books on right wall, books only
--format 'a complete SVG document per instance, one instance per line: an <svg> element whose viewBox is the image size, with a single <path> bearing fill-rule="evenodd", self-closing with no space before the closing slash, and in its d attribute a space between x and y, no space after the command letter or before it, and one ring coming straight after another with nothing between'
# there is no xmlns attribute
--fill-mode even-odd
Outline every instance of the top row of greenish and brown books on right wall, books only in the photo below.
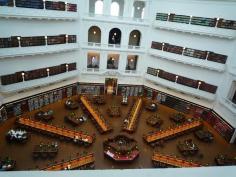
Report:
<svg viewBox="0 0 236 177"><path fill-rule="evenodd" d="M196 17L177 15L174 13L157 13L156 20L236 30L235 20L225 20L223 18Z"/></svg>

